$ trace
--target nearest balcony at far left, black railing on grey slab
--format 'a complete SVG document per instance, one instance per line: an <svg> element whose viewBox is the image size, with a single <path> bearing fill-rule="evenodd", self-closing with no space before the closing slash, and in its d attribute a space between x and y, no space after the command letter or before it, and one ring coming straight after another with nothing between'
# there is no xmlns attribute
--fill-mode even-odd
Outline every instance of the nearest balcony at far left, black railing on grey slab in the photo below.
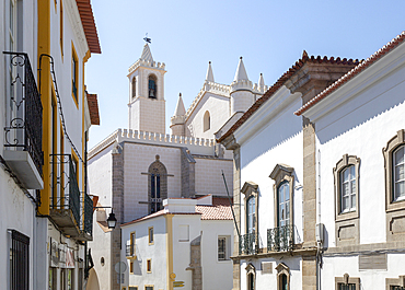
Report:
<svg viewBox="0 0 405 290"><path fill-rule="evenodd" d="M43 106L27 54L3 51L7 102L3 156L27 189L43 189Z"/></svg>

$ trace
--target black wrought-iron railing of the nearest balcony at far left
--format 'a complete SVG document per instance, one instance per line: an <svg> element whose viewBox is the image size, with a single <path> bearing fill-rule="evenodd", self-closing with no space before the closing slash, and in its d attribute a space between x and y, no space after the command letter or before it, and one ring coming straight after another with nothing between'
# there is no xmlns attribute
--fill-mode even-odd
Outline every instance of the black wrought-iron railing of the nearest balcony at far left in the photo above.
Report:
<svg viewBox="0 0 405 290"><path fill-rule="evenodd" d="M27 54L3 51L8 88L4 147L27 151L43 175L43 106Z"/></svg>

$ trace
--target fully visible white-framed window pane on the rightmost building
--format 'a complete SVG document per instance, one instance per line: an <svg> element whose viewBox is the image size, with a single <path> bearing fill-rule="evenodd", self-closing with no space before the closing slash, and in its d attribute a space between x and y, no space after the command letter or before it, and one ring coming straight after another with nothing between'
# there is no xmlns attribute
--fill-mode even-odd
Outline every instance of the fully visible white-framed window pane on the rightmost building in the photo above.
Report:
<svg viewBox="0 0 405 290"><path fill-rule="evenodd" d="M356 167L350 165L340 171L340 213L356 210Z"/></svg>

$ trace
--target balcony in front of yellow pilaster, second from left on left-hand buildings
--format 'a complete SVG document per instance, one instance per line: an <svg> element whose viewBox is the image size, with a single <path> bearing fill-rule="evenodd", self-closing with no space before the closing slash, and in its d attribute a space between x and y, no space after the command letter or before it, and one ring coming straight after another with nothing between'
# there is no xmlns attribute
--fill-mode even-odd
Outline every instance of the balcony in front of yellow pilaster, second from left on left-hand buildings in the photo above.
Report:
<svg viewBox="0 0 405 290"><path fill-rule="evenodd" d="M80 192L72 158L70 154L50 154L50 164L53 173L49 214L63 234L79 237Z"/></svg>

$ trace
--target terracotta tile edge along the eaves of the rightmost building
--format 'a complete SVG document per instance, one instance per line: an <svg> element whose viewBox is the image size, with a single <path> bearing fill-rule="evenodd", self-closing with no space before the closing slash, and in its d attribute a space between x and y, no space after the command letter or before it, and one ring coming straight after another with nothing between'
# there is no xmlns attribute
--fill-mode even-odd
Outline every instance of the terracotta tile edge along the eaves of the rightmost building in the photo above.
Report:
<svg viewBox="0 0 405 290"><path fill-rule="evenodd" d="M320 94L317 94L315 97L313 97L310 102L308 102L305 105L300 107L294 114L297 116L302 115L306 109L314 106L316 103L324 100L326 96L328 96L331 93L336 91L338 88L350 81L352 78L355 78L357 74L359 74L361 71L377 62L379 59L381 59L383 56L385 56L387 53L396 48L400 44L402 44L405 40L405 31L402 32L400 35L397 35L394 39L392 39L390 43L384 45L382 48L380 48L377 53L374 53L372 56L370 56L368 59L362 61L357 67L352 68L349 72L347 72L345 76L343 76L340 79L338 79L336 82L331 84L328 88L326 88L324 91L322 91Z"/></svg>

